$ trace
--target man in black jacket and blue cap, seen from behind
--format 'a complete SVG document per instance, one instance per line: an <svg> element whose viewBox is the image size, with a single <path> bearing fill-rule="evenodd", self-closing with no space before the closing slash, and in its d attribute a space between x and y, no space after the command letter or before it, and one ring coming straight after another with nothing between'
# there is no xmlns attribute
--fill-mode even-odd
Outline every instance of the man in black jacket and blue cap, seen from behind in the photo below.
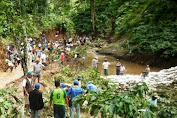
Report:
<svg viewBox="0 0 177 118"><path fill-rule="evenodd" d="M44 107L42 92L39 91L40 84L35 84L35 89L29 93L31 118L41 118L41 109Z"/></svg>

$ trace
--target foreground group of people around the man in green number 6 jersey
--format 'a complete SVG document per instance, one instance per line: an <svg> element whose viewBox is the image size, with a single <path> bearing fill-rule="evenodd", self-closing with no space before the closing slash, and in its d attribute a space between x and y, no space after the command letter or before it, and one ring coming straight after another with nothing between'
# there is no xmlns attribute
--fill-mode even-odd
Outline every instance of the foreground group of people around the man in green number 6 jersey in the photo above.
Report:
<svg viewBox="0 0 177 118"><path fill-rule="evenodd" d="M25 105L27 112L31 109L31 118L40 118L41 110L44 108L42 92L39 91L40 84L35 83L34 89L32 84L33 72L28 72L27 77L23 80L23 89L25 95ZM77 118L80 118L80 104L74 104L73 99L80 94L87 94L89 91L98 92L96 85L88 82L86 93L81 88L82 76L78 76L73 82L73 86L66 86L64 83L55 80L55 89L51 91L50 105L51 110L53 104L54 118L65 118L66 107L70 111L70 118L74 118L74 109L76 109ZM25 84L26 83L26 84ZM29 97L28 97L29 96ZM29 100L29 101L28 101Z"/></svg>

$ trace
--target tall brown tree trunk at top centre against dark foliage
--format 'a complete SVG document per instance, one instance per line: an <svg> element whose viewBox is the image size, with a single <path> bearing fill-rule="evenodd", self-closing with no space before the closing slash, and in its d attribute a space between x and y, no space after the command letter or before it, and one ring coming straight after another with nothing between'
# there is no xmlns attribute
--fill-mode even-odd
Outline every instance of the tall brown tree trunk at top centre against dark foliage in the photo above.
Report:
<svg viewBox="0 0 177 118"><path fill-rule="evenodd" d="M92 31L93 39L96 37L96 26L95 26L95 0L90 0L91 20L92 20Z"/></svg>

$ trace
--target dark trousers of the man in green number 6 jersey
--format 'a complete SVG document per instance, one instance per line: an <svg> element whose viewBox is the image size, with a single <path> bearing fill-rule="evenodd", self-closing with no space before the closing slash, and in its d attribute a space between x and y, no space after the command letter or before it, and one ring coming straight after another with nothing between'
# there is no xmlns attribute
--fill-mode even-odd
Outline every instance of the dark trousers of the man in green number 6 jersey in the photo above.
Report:
<svg viewBox="0 0 177 118"><path fill-rule="evenodd" d="M54 118L65 118L65 106L54 104Z"/></svg>

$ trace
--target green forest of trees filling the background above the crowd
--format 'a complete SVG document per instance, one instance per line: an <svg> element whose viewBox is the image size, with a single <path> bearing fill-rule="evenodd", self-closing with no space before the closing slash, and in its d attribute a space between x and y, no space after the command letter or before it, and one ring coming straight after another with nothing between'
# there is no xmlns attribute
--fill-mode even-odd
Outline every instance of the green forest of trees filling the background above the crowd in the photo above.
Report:
<svg viewBox="0 0 177 118"><path fill-rule="evenodd" d="M177 56L175 0L3 0L0 4L1 39L38 37L62 28L68 37L112 39L131 55Z"/></svg>

